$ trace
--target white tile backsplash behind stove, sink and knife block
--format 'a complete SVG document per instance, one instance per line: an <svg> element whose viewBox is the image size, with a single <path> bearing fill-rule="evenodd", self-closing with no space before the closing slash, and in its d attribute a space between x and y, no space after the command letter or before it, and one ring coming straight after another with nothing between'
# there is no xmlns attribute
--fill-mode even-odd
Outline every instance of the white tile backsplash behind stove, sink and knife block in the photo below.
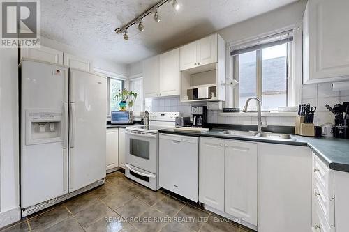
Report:
<svg viewBox="0 0 349 232"><path fill-rule="evenodd" d="M325 104L333 107L337 103L348 102L349 91L332 91L331 83L307 84L302 86L302 103L310 103L317 107L315 125L334 123L334 114L325 108ZM170 98L147 98L145 109L148 111L179 111L182 116L191 116L191 105L205 105L204 102L181 102L179 96ZM221 111L208 111L209 123L256 125L256 116L221 116ZM295 117L262 117L264 125L295 125Z"/></svg>

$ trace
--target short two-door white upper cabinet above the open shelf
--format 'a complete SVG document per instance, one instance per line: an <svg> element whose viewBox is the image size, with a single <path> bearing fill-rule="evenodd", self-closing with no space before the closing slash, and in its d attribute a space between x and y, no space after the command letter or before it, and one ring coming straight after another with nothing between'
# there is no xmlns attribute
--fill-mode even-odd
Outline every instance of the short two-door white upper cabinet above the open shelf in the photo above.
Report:
<svg viewBox="0 0 349 232"><path fill-rule="evenodd" d="M218 61L218 34L207 36L181 47L181 70L216 63Z"/></svg>

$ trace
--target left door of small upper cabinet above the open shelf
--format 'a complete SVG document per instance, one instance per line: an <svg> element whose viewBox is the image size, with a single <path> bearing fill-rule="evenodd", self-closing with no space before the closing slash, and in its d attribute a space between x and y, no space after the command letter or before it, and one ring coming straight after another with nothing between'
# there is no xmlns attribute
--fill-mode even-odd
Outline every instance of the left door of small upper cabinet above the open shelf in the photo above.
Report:
<svg viewBox="0 0 349 232"><path fill-rule="evenodd" d="M197 45L198 41L191 42L188 45L184 45L180 48L181 50L181 70L194 68L197 65Z"/></svg>

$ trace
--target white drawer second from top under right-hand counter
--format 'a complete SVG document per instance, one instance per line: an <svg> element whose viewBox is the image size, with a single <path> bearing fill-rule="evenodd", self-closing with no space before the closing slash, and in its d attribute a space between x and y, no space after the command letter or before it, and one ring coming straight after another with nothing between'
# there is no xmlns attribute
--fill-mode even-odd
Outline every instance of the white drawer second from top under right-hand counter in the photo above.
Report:
<svg viewBox="0 0 349 232"><path fill-rule="evenodd" d="M315 185L313 202L316 202L317 206L322 210L328 224L334 226L334 199L328 199L318 185Z"/></svg>

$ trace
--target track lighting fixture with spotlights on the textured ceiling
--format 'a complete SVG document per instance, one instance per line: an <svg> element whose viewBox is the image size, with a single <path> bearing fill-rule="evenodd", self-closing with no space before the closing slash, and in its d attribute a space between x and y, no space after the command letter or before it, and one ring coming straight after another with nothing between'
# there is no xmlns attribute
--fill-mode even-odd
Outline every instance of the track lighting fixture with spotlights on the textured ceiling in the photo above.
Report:
<svg viewBox="0 0 349 232"><path fill-rule="evenodd" d="M171 3L171 5L173 6L173 8L175 10L179 10L179 8L181 7L179 5L179 3L177 2L177 0L161 0L158 3L156 3L156 5L152 6L151 8L149 8L148 10L144 11L144 13L142 13L142 15L138 16L137 18L135 18L134 20L132 20L131 22L129 22L128 24L122 26L121 28L117 28L115 29L115 33L119 34L119 33L124 33L124 35L122 36L124 38L124 40L128 40L128 33L127 33L127 29L135 24L138 24L138 31L144 31L144 25L142 23L142 19L144 17L146 17L147 15L151 15L154 13L154 20L155 22L160 22L161 21L161 17L160 15L158 15L158 8L160 8L161 6L163 6L163 4L165 3Z"/></svg>

